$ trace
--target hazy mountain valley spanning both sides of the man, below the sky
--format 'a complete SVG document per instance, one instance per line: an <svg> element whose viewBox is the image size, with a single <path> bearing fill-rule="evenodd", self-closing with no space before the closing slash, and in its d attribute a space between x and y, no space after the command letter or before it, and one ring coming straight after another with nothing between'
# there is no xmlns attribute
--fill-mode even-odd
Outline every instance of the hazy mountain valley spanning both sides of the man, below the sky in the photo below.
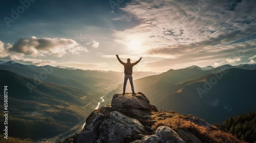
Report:
<svg viewBox="0 0 256 143"><path fill-rule="evenodd" d="M13 137L53 141L61 134L65 138L81 130L93 110L110 104L113 94L122 92L123 73L116 71L0 63L0 86L8 85L10 90ZM248 64L190 66L161 74L135 71L134 85L158 110L193 114L214 124L256 110L255 69L255 64ZM126 92L130 91L127 83Z"/></svg>

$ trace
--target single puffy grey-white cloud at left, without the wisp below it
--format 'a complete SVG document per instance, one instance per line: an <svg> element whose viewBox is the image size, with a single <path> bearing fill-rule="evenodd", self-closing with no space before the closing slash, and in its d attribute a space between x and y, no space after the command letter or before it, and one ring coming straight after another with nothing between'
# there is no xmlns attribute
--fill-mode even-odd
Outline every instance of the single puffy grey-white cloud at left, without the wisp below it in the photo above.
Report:
<svg viewBox="0 0 256 143"><path fill-rule="evenodd" d="M62 57L66 54L79 54L88 52L86 47L72 39L65 38L20 38L15 42L10 52L23 53L33 57L55 56Z"/></svg>

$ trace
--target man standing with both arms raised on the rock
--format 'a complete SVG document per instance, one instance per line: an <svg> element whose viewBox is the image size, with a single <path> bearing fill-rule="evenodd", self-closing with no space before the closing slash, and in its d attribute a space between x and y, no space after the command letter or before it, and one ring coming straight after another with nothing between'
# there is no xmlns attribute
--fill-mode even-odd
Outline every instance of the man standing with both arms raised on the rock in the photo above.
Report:
<svg viewBox="0 0 256 143"><path fill-rule="evenodd" d="M118 59L118 61L124 66L124 82L123 82L123 94L125 94L125 88L126 88L126 83L127 80L129 79L131 87L132 87L132 91L133 94L135 94L134 92L134 87L133 87L133 66L136 65L137 63L140 62L140 60L142 59L142 57L140 57L140 59L138 61L136 61L135 63L131 63L131 59L127 59L127 63L124 63L120 60L119 56L116 54L116 57Z"/></svg>

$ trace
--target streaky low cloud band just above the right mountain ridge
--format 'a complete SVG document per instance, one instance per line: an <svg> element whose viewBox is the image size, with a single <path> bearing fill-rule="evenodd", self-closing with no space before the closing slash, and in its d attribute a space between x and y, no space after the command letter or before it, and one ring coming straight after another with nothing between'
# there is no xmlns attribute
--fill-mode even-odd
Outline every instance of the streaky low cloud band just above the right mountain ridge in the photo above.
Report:
<svg viewBox="0 0 256 143"><path fill-rule="evenodd" d="M203 41L187 45L169 45L148 50L146 54L150 55L148 57L155 56L157 58L158 56L158 59L163 59L164 57L169 59L164 64L159 63L159 66L167 63L169 65L186 64L188 66L189 64L193 65L193 63L196 65L201 63L202 66L219 66L221 64L239 62L246 59L248 55L256 54L256 46L247 46L255 45L256 40L217 47L212 46L218 45L218 42L207 43Z"/></svg>

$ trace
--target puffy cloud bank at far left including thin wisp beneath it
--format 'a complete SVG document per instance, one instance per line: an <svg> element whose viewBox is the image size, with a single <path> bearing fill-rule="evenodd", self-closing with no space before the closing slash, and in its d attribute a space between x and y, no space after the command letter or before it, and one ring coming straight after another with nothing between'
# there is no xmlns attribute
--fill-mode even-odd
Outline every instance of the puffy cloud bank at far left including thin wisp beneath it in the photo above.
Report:
<svg viewBox="0 0 256 143"><path fill-rule="evenodd" d="M88 52L87 48L72 39L65 38L20 38L14 44L0 41L0 57L29 62L37 65L53 64L53 60L42 57L65 57L66 55Z"/></svg>

